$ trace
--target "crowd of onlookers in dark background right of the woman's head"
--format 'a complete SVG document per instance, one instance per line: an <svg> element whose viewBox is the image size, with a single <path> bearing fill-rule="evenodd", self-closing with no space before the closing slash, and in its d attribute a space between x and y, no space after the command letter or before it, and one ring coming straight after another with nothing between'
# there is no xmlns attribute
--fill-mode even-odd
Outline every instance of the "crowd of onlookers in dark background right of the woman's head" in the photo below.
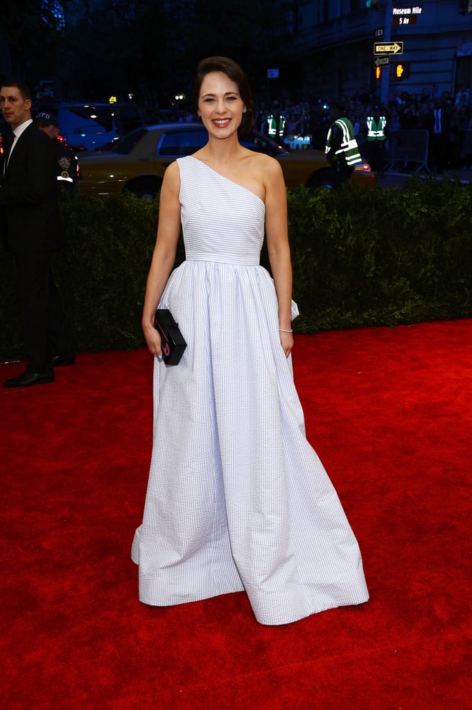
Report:
<svg viewBox="0 0 472 710"><path fill-rule="evenodd" d="M461 87L455 96L449 91L441 92L437 84L431 89L423 89L421 94L398 89L390 95L385 106L367 86L352 97L341 97L341 100L364 159L368 160L369 155L369 118L385 116L385 160L388 159L389 138L391 140L395 131L426 130L429 133L430 168L438 172L446 168L471 168L472 109L466 87ZM255 127L292 149L323 149L330 123L329 99L312 97L293 102L278 98L270 106L259 105Z"/></svg>

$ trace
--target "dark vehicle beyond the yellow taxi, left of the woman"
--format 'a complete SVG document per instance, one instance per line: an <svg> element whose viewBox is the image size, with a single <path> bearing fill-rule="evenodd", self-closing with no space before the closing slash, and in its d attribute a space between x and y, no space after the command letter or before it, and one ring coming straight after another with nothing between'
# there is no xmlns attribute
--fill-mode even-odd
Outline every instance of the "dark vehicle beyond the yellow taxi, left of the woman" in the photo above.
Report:
<svg viewBox="0 0 472 710"><path fill-rule="evenodd" d="M38 103L38 111L52 111L57 116L60 134L74 151L97 151L109 148L114 141L146 124L163 121L157 109L136 104L49 104Z"/></svg>

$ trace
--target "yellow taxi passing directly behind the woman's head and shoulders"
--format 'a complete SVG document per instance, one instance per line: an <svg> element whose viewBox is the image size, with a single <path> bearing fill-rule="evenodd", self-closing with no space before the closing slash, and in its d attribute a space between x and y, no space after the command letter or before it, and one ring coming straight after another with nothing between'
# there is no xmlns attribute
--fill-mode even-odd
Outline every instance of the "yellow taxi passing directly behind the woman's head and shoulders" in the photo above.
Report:
<svg viewBox="0 0 472 710"><path fill-rule="evenodd" d="M202 124L142 126L117 141L113 151L80 156L79 190L84 195L114 195L128 190L140 197L154 197L169 163L191 155L205 143L207 131ZM329 185L329 165L323 151L287 152L258 131L242 143L253 151L273 155L290 189ZM375 173L368 163L361 163L353 180L371 185Z"/></svg>

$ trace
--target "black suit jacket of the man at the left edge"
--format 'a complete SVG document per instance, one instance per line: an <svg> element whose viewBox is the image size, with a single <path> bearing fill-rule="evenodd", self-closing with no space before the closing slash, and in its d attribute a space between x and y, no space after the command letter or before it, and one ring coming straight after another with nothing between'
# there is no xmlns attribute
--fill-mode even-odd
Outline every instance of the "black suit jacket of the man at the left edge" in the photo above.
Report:
<svg viewBox="0 0 472 710"><path fill-rule="evenodd" d="M5 174L0 166L0 209L2 236L12 251L61 245L53 141L35 123L16 141Z"/></svg>

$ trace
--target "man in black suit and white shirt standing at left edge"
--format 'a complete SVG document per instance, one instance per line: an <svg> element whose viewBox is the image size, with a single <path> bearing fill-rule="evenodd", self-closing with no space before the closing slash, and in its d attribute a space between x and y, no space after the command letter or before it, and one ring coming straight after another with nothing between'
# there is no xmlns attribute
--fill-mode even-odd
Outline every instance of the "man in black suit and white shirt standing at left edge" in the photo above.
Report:
<svg viewBox="0 0 472 710"><path fill-rule="evenodd" d="M0 168L0 227L18 267L21 321L26 341L26 372L6 387L31 387L54 380L53 366L74 362L50 266L62 241L57 208L55 151L31 119L25 84L5 80L0 106L12 129L4 138Z"/></svg>

